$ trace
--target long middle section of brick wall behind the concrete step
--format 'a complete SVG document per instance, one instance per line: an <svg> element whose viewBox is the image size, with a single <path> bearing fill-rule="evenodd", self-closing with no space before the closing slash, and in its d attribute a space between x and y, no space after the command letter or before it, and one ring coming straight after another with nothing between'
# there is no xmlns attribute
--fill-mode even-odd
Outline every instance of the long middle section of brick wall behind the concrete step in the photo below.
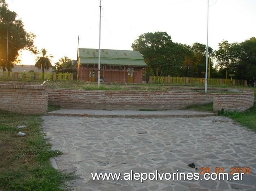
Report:
<svg viewBox="0 0 256 191"><path fill-rule="evenodd" d="M48 89L48 103L77 109L182 109L213 102L213 93Z"/></svg>

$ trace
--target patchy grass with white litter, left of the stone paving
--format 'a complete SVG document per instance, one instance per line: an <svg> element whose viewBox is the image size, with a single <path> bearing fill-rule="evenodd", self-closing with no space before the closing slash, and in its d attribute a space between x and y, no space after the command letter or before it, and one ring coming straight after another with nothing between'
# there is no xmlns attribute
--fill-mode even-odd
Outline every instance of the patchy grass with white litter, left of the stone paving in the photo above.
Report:
<svg viewBox="0 0 256 191"><path fill-rule="evenodd" d="M0 190L64 190L74 179L54 169L49 158L62 154L51 150L40 130L37 115L21 115L0 110ZM22 129L17 126L26 125ZM19 136L18 132L26 136Z"/></svg>

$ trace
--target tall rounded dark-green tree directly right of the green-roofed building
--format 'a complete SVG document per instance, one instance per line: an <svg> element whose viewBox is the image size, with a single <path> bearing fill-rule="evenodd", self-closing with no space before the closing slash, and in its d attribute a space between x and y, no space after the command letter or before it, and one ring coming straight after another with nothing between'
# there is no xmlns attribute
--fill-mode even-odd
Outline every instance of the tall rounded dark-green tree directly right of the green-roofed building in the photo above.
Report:
<svg viewBox="0 0 256 191"><path fill-rule="evenodd" d="M132 43L132 48L140 51L153 75L181 75L186 47L172 42L166 32L141 34Z"/></svg>

